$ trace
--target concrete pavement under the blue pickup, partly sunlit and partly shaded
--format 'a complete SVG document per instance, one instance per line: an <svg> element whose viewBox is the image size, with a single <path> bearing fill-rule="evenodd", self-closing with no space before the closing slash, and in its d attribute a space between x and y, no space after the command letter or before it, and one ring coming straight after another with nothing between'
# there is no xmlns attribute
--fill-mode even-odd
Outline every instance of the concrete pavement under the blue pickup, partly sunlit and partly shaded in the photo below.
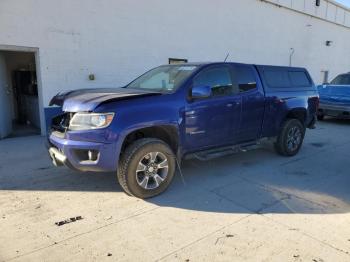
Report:
<svg viewBox="0 0 350 262"><path fill-rule="evenodd" d="M0 261L350 261L349 131L319 123L293 158L187 161L185 185L146 201L53 167L42 137L2 140Z"/></svg>

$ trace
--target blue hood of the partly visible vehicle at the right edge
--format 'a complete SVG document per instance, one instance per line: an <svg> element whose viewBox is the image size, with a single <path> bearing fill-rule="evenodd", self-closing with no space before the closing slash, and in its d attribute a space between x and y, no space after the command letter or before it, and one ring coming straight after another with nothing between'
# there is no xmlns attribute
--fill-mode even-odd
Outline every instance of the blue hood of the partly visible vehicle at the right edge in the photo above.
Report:
<svg viewBox="0 0 350 262"><path fill-rule="evenodd" d="M318 86L321 103L350 105L350 85Z"/></svg>

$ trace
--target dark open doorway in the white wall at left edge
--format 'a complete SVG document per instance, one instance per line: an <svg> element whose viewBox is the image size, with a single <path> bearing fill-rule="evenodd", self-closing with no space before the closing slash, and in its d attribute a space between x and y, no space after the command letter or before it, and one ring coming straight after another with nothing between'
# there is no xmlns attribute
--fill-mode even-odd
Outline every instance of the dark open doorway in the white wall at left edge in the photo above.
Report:
<svg viewBox="0 0 350 262"><path fill-rule="evenodd" d="M0 50L0 139L40 135L35 52Z"/></svg>

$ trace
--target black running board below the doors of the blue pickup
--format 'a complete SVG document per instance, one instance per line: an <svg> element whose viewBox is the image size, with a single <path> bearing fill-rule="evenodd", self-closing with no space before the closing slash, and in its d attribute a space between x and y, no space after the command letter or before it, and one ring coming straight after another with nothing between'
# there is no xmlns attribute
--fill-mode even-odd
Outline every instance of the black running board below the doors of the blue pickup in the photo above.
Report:
<svg viewBox="0 0 350 262"><path fill-rule="evenodd" d="M247 152L250 150L254 150L260 147L260 142L250 142L240 145L234 145L234 146L226 146L226 147L220 147L220 148L214 148L204 151L199 151L196 153L192 153L187 155L186 159L193 159L196 158L200 161L208 161L211 159L233 155L239 152Z"/></svg>

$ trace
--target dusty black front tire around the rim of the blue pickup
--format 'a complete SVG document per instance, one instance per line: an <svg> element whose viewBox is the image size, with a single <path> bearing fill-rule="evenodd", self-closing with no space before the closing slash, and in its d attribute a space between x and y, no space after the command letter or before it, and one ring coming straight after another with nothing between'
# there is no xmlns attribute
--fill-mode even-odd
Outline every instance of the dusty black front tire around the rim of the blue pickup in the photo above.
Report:
<svg viewBox="0 0 350 262"><path fill-rule="evenodd" d="M165 179L159 183L157 188L145 189L138 182L139 177L136 170L142 159L144 159L144 157L151 152L160 152L162 156L165 156L167 159L168 169ZM134 143L128 146L125 152L122 154L119 162L117 177L119 184L127 194L145 199L157 196L164 192L173 180L175 170L176 158L171 148L162 140L143 138L136 140ZM145 172L141 171L141 173L145 176L145 174L143 174ZM150 181L152 181L152 179L153 178L151 178ZM156 183L155 179L153 180Z"/></svg>

